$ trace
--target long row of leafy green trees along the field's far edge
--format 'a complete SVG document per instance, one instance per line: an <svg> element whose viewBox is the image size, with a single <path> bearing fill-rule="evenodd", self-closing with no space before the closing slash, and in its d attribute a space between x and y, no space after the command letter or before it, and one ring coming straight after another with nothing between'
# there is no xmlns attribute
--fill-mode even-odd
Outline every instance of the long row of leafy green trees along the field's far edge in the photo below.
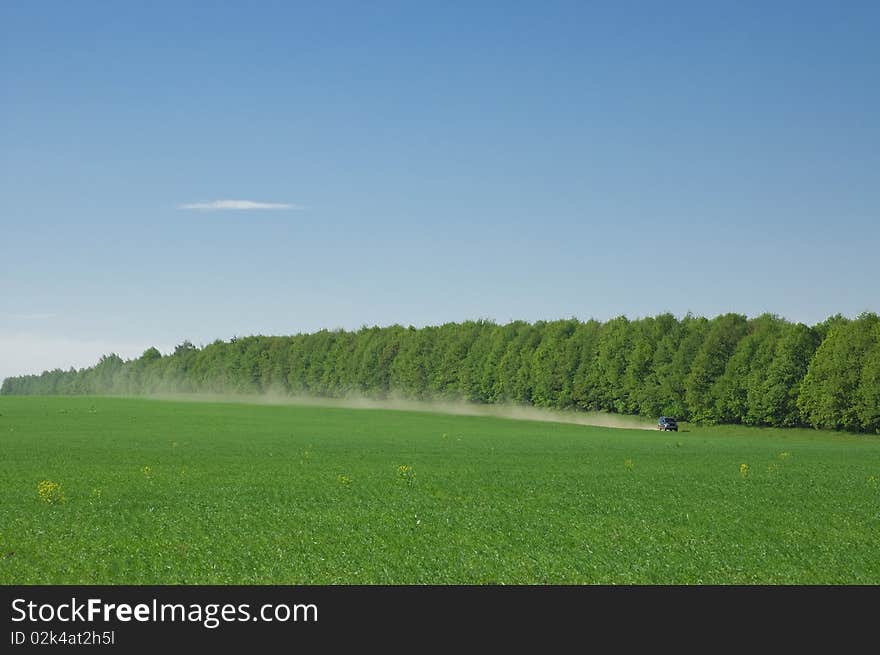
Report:
<svg viewBox="0 0 880 655"><path fill-rule="evenodd" d="M281 393L461 399L704 423L880 431L880 317L765 314L399 325L189 342L8 378L4 394Z"/></svg>

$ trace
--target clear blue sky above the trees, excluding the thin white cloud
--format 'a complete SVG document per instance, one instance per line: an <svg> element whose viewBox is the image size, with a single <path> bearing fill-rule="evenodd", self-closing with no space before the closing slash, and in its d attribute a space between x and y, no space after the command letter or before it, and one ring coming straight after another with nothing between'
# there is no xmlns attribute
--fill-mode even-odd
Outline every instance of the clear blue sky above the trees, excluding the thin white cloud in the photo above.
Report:
<svg viewBox="0 0 880 655"><path fill-rule="evenodd" d="M876 2L3 3L0 378L880 310L878 33ZM183 208L217 201L289 207Z"/></svg>

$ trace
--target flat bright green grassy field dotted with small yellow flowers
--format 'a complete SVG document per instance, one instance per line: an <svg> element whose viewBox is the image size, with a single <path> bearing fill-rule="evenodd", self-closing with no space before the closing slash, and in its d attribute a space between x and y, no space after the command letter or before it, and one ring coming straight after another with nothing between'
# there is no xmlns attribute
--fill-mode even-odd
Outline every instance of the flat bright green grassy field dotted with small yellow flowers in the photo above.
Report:
<svg viewBox="0 0 880 655"><path fill-rule="evenodd" d="M0 583L878 584L880 439L3 397Z"/></svg>

